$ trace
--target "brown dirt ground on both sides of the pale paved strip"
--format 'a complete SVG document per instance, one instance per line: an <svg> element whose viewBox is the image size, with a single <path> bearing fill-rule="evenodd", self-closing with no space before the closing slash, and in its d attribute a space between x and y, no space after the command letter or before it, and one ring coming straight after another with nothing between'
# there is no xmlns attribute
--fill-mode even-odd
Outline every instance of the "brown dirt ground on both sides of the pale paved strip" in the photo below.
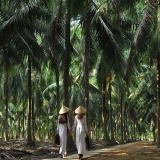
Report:
<svg viewBox="0 0 160 160"><path fill-rule="evenodd" d="M96 142L94 149L87 152L94 155L93 152L99 153L100 150L101 153L89 158L85 158L84 155L84 160L160 160L160 148L148 141L116 145L115 147L107 147L103 151L104 147L100 142ZM56 159L58 157L58 147L50 140L37 142L36 148L25 148L23 143L15 141L8 143L0 141L0 159L3 155L12 155L15 160ZM68 157L72 155L74 158L77 157L77 151L70 152Z"/></svg>

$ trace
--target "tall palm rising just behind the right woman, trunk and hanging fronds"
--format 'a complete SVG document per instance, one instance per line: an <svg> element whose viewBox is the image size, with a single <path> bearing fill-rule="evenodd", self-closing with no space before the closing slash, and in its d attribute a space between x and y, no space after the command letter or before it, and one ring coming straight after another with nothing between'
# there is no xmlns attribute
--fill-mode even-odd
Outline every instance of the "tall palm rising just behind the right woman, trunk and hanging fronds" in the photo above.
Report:
<svg viewBox="0 0 160 160"><path fill-rule="evenodd" d="M95 9L93 8L92 1L86 1L84 4L83 9L86 8L85 14L82 14L81 17L81 22L82 23L82 34L83 34L83 39L82 39L82 72L83 72L83 83L84 83L84 92L85 92L85 97L84 97L84 102L85 102L85 107L87 109L87 123L90 124L90 108L89 108L89 77L90 77L90 72L92 71L93 67L95 64L93 63L93 58L92 55L94 54L94 59L96 59L97 54L95 47L93 45L93 37L92 37L92 27L91 27L91 20L93 18L93 15L95 13ZM88 125L89 126L89 125ZM89 129L90 130L90 129Z"/></svg>

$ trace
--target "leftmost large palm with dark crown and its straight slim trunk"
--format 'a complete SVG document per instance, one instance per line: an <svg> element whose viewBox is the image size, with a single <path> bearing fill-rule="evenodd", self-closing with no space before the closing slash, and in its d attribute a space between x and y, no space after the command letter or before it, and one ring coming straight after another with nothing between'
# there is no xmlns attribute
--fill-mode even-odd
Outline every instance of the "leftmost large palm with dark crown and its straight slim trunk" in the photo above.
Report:
<svg viewBox="0 0 160 160"><path fill-rule="evenodd" d="M9 19L4 18L4 23L0 30L1 38L3 41L1 42L2 45L5 45L9 42L17 48L17 53L20 53L21 56L28 56L28 102L29 102L29 115L28 115L28 137L27 137L27 145L32 145L32 137L31 137L31 67L39 67L39 63L37 62L36 58L39 56L42 57L43 51L39 46L36 37L34 36L34 31L38 31L39 28L36 26L35 18L31 14L34 12L35 15L38 15L38 18L43 18L48 16L47 12L44 15L42 10L37 8L36 4L34 3L25 3L21 1L23 7L21 7L20 3L10 2L7 4L10 9L7 14ZM12 6L12 7L10 7ZM16 12L15 12L16 11ZM4 14L5 15L5 14ZM43 15L40 16L39 15ZM6 23L7 22L7 23ZM38 20L37 20L38 22ZM33 25L35 24L35 25ZM23 29L22 29L23 28ZM40 30L39 30L40 32ZM2 34L3 33L3 34ZM4 38L5 37L5 38ZM40 68L40 67L39 67ZM33 145L35 143L33 142Z"/></svg>

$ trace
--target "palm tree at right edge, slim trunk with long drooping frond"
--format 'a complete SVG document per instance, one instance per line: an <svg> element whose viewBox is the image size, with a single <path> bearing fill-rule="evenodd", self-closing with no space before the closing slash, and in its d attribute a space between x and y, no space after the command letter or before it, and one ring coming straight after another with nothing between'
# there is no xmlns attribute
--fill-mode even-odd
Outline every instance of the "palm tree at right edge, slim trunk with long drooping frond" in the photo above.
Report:
<svg viewBox="0 0 160 160"><path fill-rule="evenodd" d="M159 21L157 21L157 15L158 15L157 11L158 11L158 1L148 0L146 3L146 9L145 9L143 18L141 20L141 23L139 24L139 27L137 28L137 33L132 43L132 48L131 48L130 55L128 58L126 77L127 77L127 80L129 80L131 79L131 75L132 76L134 75L133 70L135 67L135 63L137 63L137 59L139 57L141 57L144 53L149 53L149 55L151 55L152 53L152 57L156 59L156 63L157 63L156 143L159 146L160 145L159 54L160 53L159 53L159 48L158 48L159 47L159 42L158 42L158 37L159 37L158 23Z"/></svg>

